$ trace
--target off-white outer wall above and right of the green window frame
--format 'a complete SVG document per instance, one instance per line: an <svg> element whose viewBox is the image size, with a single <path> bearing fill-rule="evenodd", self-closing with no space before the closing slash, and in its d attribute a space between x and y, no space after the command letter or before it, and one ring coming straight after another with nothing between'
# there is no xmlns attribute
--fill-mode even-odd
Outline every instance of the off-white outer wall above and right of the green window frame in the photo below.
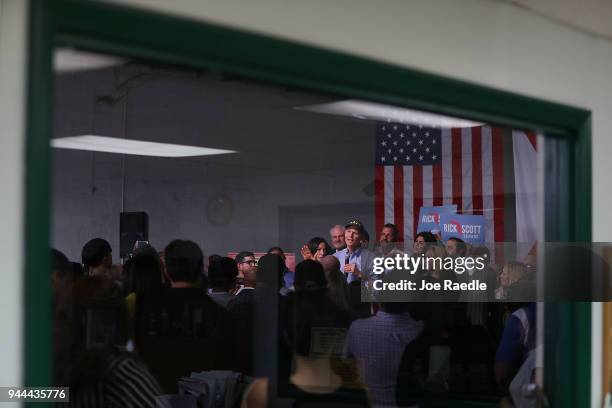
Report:
<svg viewBox="0 0 612 408"><path fill-rule="evenodd" d="M593 240L612 240L612 42L486 0L107 0L236 26L593 112Z"/></svg>

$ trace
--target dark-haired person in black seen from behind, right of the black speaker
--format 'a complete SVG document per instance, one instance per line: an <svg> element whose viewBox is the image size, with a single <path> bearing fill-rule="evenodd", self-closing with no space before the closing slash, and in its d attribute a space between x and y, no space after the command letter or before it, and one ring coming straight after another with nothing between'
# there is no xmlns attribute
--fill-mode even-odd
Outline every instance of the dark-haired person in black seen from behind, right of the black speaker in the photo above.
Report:
<svg viewBox="0 0 612 408"><path fill-rule="evenodd" d="M140 355L166 392L192 371L234 368L232 315L197 282L204 256L192 241L165 249L171 288L136 298L134 331Z"/></svg>

